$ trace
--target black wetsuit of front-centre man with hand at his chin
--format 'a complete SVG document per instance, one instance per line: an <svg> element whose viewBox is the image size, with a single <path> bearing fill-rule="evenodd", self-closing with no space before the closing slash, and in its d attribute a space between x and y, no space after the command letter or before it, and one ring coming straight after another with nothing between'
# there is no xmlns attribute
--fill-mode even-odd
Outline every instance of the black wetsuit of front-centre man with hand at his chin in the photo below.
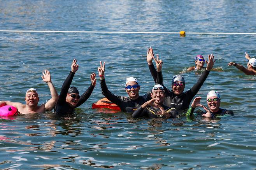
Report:
<svg viewBox="0 0 256 170"><path fill-rule="evenodd" d="M168 108L167 106L162 105L166 113L170 114L170 118L177 118L177 110L175 108ZM163 114L158 114L158 111L161 111L159 108L154 108L153 106L148 108L142 108L141 106L133 112L133 118L138 118L142 116L147 116L149 118L167 118Z"/></svg>

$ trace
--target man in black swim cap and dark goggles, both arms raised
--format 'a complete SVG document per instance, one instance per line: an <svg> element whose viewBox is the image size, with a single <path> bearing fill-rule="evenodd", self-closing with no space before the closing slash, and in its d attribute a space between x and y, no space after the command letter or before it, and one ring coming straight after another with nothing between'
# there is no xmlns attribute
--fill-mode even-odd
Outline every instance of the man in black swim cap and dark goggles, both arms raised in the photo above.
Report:
<svg viewBox="0 0 256 170"><path fill-rule="evenodd" d="M71 71L61 87L59 100L54 108L54 112L59 116L74 113L75 108L87 101L96 85L96 74L91 73L91 85L81 96L76 87L70 87L75 72L79 67L76 63L77 60L74 59L71 65Z"/></svg>

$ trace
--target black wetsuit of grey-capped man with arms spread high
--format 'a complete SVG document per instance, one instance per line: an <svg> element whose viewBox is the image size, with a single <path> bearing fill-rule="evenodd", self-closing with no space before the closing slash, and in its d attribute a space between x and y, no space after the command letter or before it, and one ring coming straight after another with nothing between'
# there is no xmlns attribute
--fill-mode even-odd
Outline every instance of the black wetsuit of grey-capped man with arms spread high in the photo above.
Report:
<svg viewBox="0 0 256 170"><path fill-rule="evenodd" d="M156 84L163 85L163 75L162 72L157 72L154 68L154 65L149 65L149 70L151 75L154 78L154 81ZM165 102L163 103L165 106L168 106L170 108L177 109L180 113L183 111L186 111L189 108L189 104L193 97L195 97L196 93L200 90L200 88L203 85L203 82L206 80L207 76L209 75L210 71L203 71L202 75L198 79L198 81L193 85L191 89L189 89L186 92L182 92L181 95L175 95L173 91L170 91L168 88L165 88Z"/></svg>

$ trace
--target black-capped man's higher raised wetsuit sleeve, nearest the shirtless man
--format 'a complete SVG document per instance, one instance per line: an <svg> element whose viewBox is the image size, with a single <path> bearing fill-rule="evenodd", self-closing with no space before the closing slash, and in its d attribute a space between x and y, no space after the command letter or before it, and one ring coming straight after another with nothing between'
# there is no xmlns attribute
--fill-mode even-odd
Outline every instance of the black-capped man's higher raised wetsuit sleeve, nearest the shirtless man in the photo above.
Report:
<svg viewBox="0 0 256 170"><path fill-rule="evenodd" d="M61 91L60 91L60 95L59 95L59 99L58 99L58 104L66 102L66 97L67 97L67 94L68 94L68 88L70 87L70 85L72 83L74 75L75 75L75 73L70 71L69 75L67 76L66 80L64 81L64 83L61 87Z"/></svg>

